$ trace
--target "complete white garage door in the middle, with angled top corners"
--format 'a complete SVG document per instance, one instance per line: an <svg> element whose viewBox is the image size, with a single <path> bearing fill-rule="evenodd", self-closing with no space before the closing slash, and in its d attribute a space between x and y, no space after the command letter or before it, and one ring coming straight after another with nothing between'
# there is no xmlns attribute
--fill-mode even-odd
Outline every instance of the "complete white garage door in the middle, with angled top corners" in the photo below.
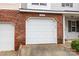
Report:
<svg viewBox="0 0 79 59"><path fill-rule="evenodd" d="M57 22L48 18L26 20L26 44L57 43Z"/></svg>

